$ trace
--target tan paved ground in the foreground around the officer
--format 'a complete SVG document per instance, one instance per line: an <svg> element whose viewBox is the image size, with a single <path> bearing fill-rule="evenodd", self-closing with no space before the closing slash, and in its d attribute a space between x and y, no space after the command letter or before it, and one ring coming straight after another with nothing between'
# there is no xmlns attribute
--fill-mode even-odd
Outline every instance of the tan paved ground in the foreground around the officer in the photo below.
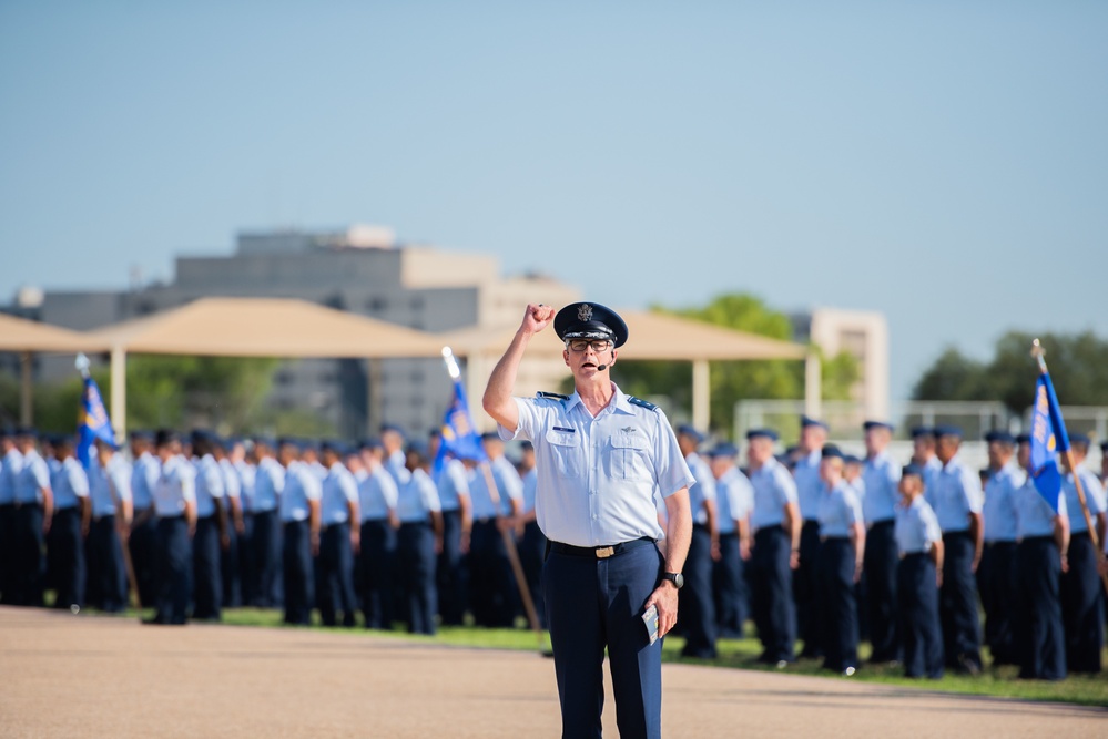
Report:
<svg viewBox="0 0 1108 739"><path fill-rule="evenodd" d="M1108 736L1108 710L664 668L668 737ZM617 736L614 711L604 736ZM538 655L0 608L2 737L556 737Z"/></svg>

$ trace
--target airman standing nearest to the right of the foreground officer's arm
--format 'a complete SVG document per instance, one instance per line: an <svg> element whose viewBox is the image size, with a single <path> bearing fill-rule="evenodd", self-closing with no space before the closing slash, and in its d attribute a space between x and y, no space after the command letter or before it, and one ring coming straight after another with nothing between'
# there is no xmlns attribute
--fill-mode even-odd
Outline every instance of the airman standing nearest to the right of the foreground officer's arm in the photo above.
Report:
<svg viewBox="0 0 1108 739"><path fill-rule="evenodd" d="M704 434L682 423L677 429L678 447L695 482L689 487L692 511L692 541L684 561L684 587L679 607L684 615L682 657L715 659L715 604L712 602L712 556L719 554L715 520L715 478L697 450ZM679 628L679 630L681 630Z"/></svg>

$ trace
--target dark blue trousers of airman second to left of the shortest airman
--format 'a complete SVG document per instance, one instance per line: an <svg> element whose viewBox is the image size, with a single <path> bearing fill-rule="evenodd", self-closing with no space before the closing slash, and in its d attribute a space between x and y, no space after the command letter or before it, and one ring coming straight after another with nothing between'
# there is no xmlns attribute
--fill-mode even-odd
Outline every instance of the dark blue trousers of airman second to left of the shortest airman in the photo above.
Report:
<svg viewBox="0 0 1108 739"><path fill-rule="evenodd" d="M820 593L823 626L823 666L842 673L858 664L858 614L854 599L854 545L848 538L829 538L820 547Z"/></svg>

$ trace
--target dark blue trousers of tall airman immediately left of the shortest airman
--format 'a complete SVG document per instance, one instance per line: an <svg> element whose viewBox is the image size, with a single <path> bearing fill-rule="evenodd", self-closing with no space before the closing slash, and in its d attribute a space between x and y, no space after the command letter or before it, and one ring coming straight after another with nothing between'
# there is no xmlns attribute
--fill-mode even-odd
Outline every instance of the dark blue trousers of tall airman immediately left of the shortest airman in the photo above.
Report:
<svg viewBox="0 0 1108 739"><path fill-rule="evenodd" d="M874 663L901 658L901 639L896 633L896 563L899 554L893 530L893 521L880 521L870 526L863 553L870 645L873 647L870 659Z"/></svg>

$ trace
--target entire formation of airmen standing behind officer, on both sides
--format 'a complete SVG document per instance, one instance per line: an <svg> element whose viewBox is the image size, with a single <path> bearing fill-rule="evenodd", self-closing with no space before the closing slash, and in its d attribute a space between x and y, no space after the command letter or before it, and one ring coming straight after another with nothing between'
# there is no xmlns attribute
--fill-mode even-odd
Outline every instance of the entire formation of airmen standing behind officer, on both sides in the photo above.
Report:
<svg viewBox="0 0 1108 739"><path fill-rule="evenodd" d="M1075 471L1064 470L1056 512L1026 472L1026 437L989 432L989 466L977 471L955 427L914 429L906 465L886 452L892 431L866 422L858 459L803 418L784 454L773 430L748 432L742 464L735 444L702 451L701 432L677 429L697 480L683 655L714 657L749 619L760 659L779 667L814 658L853 675L868 640L872 663L912 677L977 674L983 645L1026 678L1099 671L1105 553ZM525 443L514 463L496 434L482 441L488 464L444 462L437 434L407 441L396 427L358 444L135 432L129 455L98 443L85 468L72 438L2 431L0 602L42 606L52 589L58 608L120 612L133 581L156 624L254 606L282 608L288 624L316 610L325 625L353 627L360 613L367 628L421 634L467 614L511 626L521 606L508 531L541 616L533 450ZM1089 439L1070 441L1104 542L1102 478L1082 465Z"/></svg>

